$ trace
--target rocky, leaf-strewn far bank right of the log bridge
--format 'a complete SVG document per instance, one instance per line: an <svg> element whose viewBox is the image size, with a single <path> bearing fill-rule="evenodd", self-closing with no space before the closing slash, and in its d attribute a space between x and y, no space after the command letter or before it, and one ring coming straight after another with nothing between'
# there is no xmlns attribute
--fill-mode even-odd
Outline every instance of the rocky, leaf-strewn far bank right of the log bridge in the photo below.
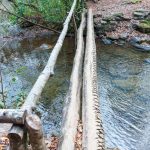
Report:
<svg viewBox="0 0 150 150"><path fill-rule="evenodd" d="M130 43L150 51L149 0L100 0L87 2L94 10L95 32L105 44Z"/></svg>

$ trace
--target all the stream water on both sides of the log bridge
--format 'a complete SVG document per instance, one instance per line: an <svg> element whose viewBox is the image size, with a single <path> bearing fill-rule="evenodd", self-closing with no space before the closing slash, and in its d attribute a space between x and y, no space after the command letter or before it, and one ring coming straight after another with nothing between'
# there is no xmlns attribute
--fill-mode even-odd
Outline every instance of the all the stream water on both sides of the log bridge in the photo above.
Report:
<svg viewBox="0 0 150 150"><path fill-rule="evenodd" d="M44 68L56 36L0 42L1 68L8 108L18 107ZM74 57L74 40L66 38L55 76L38 102L45 136L60 134L63 102ZM43 45L44 44L44 45ZM46 45L45 45L46 44ZM43 48L46 48L43 50ZM150 54L97 41L100 109L107 147L150 149Z"/></svg>

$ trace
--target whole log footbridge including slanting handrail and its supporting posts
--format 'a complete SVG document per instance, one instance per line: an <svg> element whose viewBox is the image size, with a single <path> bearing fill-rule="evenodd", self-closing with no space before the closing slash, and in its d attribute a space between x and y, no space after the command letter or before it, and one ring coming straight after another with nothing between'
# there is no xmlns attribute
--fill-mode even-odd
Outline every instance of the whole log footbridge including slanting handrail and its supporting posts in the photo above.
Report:
<svg viewBox="0 0 150 150"><path fill-rule="evenodd" d="M10 150L26 150L30 142L32 150L46 150L40 118L34 114L45 84L54 75L54 67L62 48L68 26L74 15L77 0L64 22L63 30L49 60L20 109L1 109L0 123L8 124ZM87 25L86 39L83 37ZM70 87L63 110L62 133L58 150L74 150L78 121L82 120L82 149L104 150L104 131L99 111L96 70L96 44L92 9L83 10L77 31L77 48L70 78ZM85 44L84 44L85 43Z"/></svg>

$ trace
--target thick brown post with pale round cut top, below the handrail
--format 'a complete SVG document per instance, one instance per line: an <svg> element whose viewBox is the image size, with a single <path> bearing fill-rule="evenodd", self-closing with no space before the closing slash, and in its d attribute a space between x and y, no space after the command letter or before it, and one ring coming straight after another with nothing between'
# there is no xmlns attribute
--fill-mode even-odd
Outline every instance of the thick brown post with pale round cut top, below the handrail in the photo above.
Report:
<svg viewBox="0 0 150 150"><path fill-rule="evenodd" d="M26 127L32 150L46 150L40 118L37 115L28 115L26 117Z"/></svg>

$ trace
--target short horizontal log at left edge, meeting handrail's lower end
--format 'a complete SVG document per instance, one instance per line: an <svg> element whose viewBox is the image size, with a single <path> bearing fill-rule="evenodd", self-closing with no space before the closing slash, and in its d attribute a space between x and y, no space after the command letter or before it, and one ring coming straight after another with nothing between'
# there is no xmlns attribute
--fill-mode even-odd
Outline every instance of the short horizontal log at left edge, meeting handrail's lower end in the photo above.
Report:
<svg viewBox="0 0 150 150"><path fill-rule="evenodd" d="M26 111L21 109L1 109L0 123L24 124Z"/></svg>

